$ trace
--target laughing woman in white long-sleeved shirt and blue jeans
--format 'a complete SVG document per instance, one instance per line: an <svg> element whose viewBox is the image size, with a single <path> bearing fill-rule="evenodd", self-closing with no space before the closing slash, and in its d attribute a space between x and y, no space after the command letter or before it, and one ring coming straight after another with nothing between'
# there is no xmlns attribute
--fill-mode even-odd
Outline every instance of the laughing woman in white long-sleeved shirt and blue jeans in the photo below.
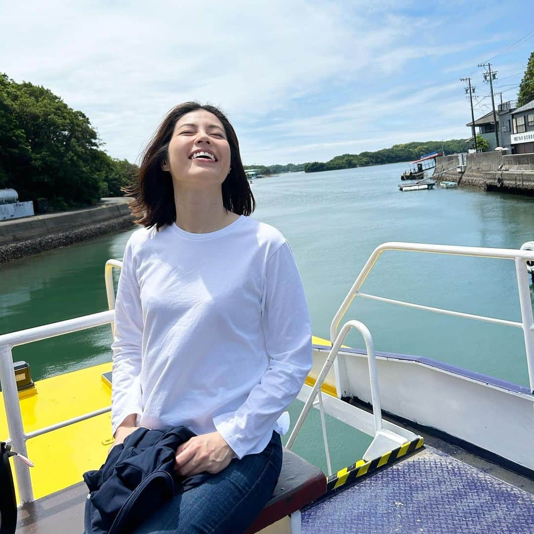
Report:
<svg viewBox="0 0 534 534"><path fill-rule="evenodd" d="M176 472L212 476L136 534L240 532L281 468L284 413L311 367L302 282L255 207L234 129L213 106L172 109L125 190L143 227L125 248L115 304L112 431L184 425Z"/></svg>

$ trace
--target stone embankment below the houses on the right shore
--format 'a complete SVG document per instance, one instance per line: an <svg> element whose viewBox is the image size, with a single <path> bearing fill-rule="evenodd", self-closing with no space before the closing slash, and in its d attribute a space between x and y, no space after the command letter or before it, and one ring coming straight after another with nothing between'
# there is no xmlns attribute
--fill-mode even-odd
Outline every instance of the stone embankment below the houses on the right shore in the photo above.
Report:
<svg viewBox="0 0 534 534"><path fill-rule="evenodd" d="M467 154L466 158L461 172L458 154L436 158L433 178L482 187L485 191L534 195L534 154L479 152Z"/></svg>

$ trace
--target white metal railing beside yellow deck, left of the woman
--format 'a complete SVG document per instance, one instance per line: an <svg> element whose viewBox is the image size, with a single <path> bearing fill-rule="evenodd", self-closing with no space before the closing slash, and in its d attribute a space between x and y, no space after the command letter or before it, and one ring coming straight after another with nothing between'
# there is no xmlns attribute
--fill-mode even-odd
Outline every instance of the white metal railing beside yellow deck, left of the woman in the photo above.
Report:
<svg viewBox="0 0 534 534"><path fill-rule="evenodd" d="M113 332L113 319L115 317L115 292L113 287L113 268L121 268L122 263L117 260L108 260L106 262L104 277L106 280L106 293L109 311L99 313L92 313L83 317L76 317L66 321L59 321L59 323L51 323L49 325L36 326L35 328L28 328L19 332L12 332L9 334L0 335L0 384L2 384L2 391L4 396L4 405L7 419L7 430L9 431L9 438L7 443L11 444L14 451L28 456L26 441L36 436L41 436L52 430L57 430L74 423L85 421L97 415L111 411L111 406L95 410L84 415L78 415L72 419L61 421L55 425L34 430L33 432L25 432L22 423L22 414L20 411L19 395L17 391L17 382L13 372L13 347L17 345L25 345L34 341L49 339L59 335L77 332L87 328L94 328L96 326L103 326L111 324ZM14 462L15 475L17 477L17 485L19 489L19 496L21 504L32 502L34 500L32 479L29 473L29 466L20 462Z"/></svg>

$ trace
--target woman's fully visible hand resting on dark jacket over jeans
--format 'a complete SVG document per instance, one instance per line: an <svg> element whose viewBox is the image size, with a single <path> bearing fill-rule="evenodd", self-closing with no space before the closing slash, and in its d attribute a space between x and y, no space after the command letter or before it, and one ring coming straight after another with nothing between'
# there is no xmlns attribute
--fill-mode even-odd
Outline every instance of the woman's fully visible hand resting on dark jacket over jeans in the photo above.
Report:
<svg viewBox="0 0 534 534"><path fill-rule="evenodd" d="M192 476L207 471L215 474L222 471L234 452L217 431L192 437L176 449L176 466L181 476Z"/></svg>

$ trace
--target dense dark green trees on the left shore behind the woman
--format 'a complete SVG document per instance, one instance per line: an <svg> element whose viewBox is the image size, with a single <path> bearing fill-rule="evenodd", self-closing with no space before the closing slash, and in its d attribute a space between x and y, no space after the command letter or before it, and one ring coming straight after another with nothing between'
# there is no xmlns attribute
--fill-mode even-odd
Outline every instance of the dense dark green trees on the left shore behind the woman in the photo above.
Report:
<svg viewBox="0 0 534 534"><path fill-rule="evenodd" d="M49 89L0 73L0 189L19 200L48 200L52 210L120 196L137 166L111 158L87 115Z"/></svg>

